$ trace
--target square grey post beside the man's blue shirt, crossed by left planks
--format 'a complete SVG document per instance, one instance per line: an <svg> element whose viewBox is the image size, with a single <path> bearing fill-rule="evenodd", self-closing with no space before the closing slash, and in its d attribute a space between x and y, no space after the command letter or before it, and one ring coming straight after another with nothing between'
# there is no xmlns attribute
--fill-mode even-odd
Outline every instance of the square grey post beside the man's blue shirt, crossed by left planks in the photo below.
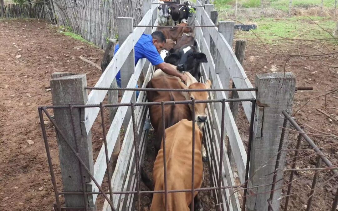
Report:
<svg viewBox="0 0 338 211"><path fill-rule="evenodd" d="M134 30L133 18L122 18L122 17L117 18L117 31L119 34L119 46L123 44L123 42L129 36L129 34L133 32L133 30ZM134 48L129 53L128 58L125 60L120 72L121 72L121 87L125 88L128 85L131 75L135 73ZM123 94L124 94L124 91L122 91L122 95ZM130 101L136 102L135 92ZM124 129L127 129L130 117L131 117L131 108L128 108L126 116L123 120Z"/></svg>

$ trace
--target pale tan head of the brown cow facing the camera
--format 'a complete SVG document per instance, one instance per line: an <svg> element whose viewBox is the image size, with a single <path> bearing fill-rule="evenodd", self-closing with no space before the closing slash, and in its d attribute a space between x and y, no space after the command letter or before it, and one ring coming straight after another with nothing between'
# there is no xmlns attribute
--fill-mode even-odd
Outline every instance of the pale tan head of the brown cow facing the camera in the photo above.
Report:
<svg viewBox="0 0 338 211"><path fill-rule="evenodd" d="M197 80L188 72L185 72L187 76L187 85L180 82L180 86L183 89L210 89L211 81L207 80L205 84L197 82ZM207 91L188 91L184 93L187 100L208 100L209 94ZM192 105L189 104L192 110ZM207 103L196 103L195 104L195 121L199 129L202 130L203 124L207 122L206 114Z"/></svg>

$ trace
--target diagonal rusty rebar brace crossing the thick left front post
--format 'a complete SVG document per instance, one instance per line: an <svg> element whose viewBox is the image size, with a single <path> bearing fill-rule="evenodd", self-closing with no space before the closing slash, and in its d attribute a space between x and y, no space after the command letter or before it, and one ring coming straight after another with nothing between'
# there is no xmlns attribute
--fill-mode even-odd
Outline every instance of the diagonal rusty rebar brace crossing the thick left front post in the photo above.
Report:
<svg viewBox="0 0 338 211"><path fill-rule="evenodd" d="M86 166L86 164L84 164L83 160L80 158L79 154L76 152L76 150L72 147L72 145L69 143L69 141L66 139L66 136L64 135L64 133L62 132L62 130L58 127L58 125L55 123L55 121L53 120L53 118L50 116L50 114L48 113L48 111L46 110L46 107L41 107L42 110L45 112L46 116L48 117L48 119L50 120L50 122L53 124L53 126L55 127L56 132L61 135L61 137L64 139L64 141L67 143L69 149L74 153L75 157L79 160L79 162L81 163L81 165L83 166L84 170L86 170L86 172L88 173L88 175L90 176L90 178L92 178L93 182L95 183L95 185L97 186L97 188L100 190L100 192L102 193L103 197L107 200L107 202L112 206L113 202L111 202L107 195L104 193L103 189L101 188L101 186L99 185L99 183L96 181L96 179L94 178L94 176L91 174L90 170L88 169L88 167ZM113 211L116 211L114 206L113 206Z"/></svg>

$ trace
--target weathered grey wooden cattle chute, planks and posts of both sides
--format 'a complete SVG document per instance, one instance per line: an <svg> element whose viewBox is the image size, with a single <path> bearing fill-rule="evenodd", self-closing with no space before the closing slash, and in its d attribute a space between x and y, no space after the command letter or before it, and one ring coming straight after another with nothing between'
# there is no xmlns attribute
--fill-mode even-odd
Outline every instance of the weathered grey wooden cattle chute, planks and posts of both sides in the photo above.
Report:
<svg viewBox="0 0 338 211"><path fill-rule="evenodd" d="M201 80L202 82L212 80L212 89L208 90L211 99L205 101L210 121L203 128L212 187L201 188L201 191L211 190L217 209L220 210L237 211L245 208L267 210L269 204L270 209L278 210L280 205L277 199L281 196L281 190L274 190L273 187L277 189L282 183L273 181L281 181L279 179L283 172L273 173L276 170L276 162L281 169L285 165L286 153L279 151L281 151L281 126L288 127L288 124L283 124L284 118L281 114L282 111L291 113L296 90L295 76L292 73L258 74L254 88L241 65L245 42L237 42L236 53L232 49L234 22L218 21L216 24L217 12L213 11L213 5L202 5L199 1L196 4L200 6L197 7L193 24L197 26L195 28L197 48L206 54L208 59L208 63L200 65ZM46 109L53 108L55 115L55 121L52 122L57 129L63 192L58 192L56 188L52 163L48 156L47 137L44 135L57 199L55 209L61 207L58 196L63 194L65 207L95 210L97 196L103 194L105 197L103 210L135 210L136 195L139 197L141 192L149 192L139 189L139 167L145 156L148 136L148 131L143 130L145 118L148 116L147 105L150 105L146 103L145 86L152 76L153 68L146 59L140 59L135 67L133 64L134 46L142 33L156 30L157 5L152 4L150 0L144 0L143 12L143 19L135 29L132 18L117 19L120 49L95 87L87 87L86 75L71 73L52 75L54 106L41 107L39 112L43 131L42 112L50 117ZM210 25L215 26L198 27ZM107 91L114 90L107 87L111 86L119 70L124 91L121 102L104 105L101 102L105 99ZM141 78L144 80L142 89L135 89L142 74L144 74ZM232 87L236 89L229 88L231 81ZM87 89L92 89L89 95ZM137 99L135 90L140 90ZM230 91L233 99L229 99ZM245 117L250 125L247 152L236 126L239 104L234 102L237 101L242 102ZM104 107L118 107L107 132L104 127ZM94 163L91 128L100 111L104 143ZM111 172L109 161L119 140L121 126L124 128L124 139L115 170ZM285 149L288 131L284 131L283 134L282 147ZM228 143L225 144L224 140ZM279 154L278 159L275 157L276 154ZM77 160L79 163L73 162ZM105 192L101 185L106 171L109 191ZM241 185L236 186L235 171ZM242 206L238 195L239 187L244 188Z"/></svg>

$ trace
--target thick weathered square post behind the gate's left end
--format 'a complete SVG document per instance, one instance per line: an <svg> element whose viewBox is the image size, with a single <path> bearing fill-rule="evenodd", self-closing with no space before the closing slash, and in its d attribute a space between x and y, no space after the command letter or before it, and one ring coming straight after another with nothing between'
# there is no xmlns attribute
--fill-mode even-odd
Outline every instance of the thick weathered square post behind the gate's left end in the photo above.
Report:
<svg viewBox="0 0 338 211"><path fill-rule="evenodd" d="M53 73L51 75L50 88L52 92L53 105L68 105L86 104L88 100L87 90L84 87L87 86L87 79L85 74L75 73ZM91 174L94 174L93 170L93 150L92 150L92 135L91 131L87 135L83 135L81 132L81 122L84 121L84 108L73 108L75 132L77 133L79 143L79 154L82 161L86 164ZM58 128L65 135L67 141L72 145L74 149L75 137L73 126L71 122L70 109L54 109L55 123ZM82 178L80 174L80 167L78 159L75 157L66 141L56 132L57 145L59 148L59 158L61 167L61 176L63 183L63 191L66 192L82 192ZM87 190L91 191L91 187L88 183L91 181L90 176L83 169L83 179L86 183ZM86 197L89 207L96 207L93 204L93 196L88 194ZM85 203L82 194L65 194L66 207L84 207Z"/></svg>

